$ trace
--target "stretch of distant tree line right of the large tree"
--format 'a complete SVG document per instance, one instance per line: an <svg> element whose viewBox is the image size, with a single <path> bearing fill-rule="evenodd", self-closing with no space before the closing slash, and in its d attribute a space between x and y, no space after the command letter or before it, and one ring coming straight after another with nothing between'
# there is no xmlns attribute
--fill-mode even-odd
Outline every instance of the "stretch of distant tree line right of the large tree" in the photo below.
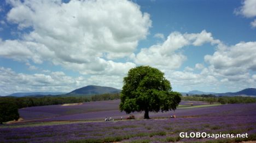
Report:
<svg viewBox="0 0 256 143"><path fill-rule="evenodd" d="M235 104L235 103L256 103L256 98L254 97L217 97L213 94L202 94L202 95L193 95L193 96L183 96L182 100L191 100L191 101L201 101L208 102L210 104L218 102L220 104Z"/></svg>

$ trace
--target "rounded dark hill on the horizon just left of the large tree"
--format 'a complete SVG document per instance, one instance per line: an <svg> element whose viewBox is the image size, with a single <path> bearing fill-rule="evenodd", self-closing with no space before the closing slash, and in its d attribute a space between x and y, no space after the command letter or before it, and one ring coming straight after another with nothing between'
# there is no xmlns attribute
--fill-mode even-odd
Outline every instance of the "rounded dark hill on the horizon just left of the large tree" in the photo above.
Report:
<svg viewBox="0 0 256 143"><path fill-rule="evenodd" d="M82 88L78 88L77 90L69 92L66 95L77 95L77 94L93 95L93 94L120 93L120 92L121 90L118 90L117 88L113 88L113 87L89 85Z"/></svg>

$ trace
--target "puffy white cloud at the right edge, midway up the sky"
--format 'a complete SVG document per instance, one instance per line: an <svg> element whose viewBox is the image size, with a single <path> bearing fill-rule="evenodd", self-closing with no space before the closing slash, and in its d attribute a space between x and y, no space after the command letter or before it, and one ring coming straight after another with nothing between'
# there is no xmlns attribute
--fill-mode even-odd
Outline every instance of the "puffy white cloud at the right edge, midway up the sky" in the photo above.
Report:
<svg viewBox="0 0 256 143"><path fill-rule="evenodd" d="M205 61L224 75L256 71L256 42L241 42L232 46L219 45L213 55Z"/></svg>

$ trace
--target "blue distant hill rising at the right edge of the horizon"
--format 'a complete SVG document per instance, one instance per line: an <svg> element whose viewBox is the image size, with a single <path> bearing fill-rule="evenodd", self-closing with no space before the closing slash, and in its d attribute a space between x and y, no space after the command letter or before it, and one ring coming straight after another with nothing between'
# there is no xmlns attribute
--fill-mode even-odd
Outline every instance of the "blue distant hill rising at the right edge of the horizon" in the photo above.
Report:
<svg viewBox="0 0 256 143"><path fill-rule="evenodd" d="M246 88L238 92L218 93L216 96L256 96L256 88Z"/></svg>

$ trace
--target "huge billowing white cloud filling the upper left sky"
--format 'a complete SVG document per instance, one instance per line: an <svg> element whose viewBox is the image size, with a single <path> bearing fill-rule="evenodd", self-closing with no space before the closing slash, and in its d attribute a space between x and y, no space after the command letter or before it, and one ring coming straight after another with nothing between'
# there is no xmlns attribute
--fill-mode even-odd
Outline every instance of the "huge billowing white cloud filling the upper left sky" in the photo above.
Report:
<svg viewBox="0 0 256 143"><path fill-rule="evenodd" d="M128 57L146 38L150 16L139 5L115 1L15 1L8 22L20 31L32 28L19 40L0 43L0 56L34 63L50 61L83 74L127 72L135 64L113 62Z"/></svg>

